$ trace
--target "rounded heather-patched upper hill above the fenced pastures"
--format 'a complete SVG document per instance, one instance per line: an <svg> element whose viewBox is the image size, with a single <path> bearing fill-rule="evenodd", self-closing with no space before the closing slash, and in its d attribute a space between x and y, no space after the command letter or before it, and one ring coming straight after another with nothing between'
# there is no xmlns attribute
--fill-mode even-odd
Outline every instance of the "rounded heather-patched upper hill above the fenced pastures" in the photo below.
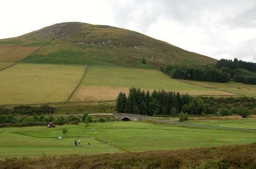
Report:
<svg viewBox="0 0 256 169"><path fill-rule="evenodd" d="M19 37L2 39L0 49L0 60L21 60L24 63L93 64L149 69L166 63L216 63L215 59L183 50L142 33L81 22L54 24ZM20 57L15 55L18 59L14 59L12 52L17 50L20 52L16 55ZM1 55L4 55L4 59ZM143 57L147 64L141 63Z"/></svg>

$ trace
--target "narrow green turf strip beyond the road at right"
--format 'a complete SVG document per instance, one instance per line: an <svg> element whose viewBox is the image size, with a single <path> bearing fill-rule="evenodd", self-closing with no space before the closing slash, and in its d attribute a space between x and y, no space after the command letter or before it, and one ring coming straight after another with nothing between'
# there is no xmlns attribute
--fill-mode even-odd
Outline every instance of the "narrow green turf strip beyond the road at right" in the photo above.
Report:
<svg viewBox="0 0 256 169"><path fill-rule="evenodd" d="M206 126L218 126L218 120L210 121L188 121L191 124L202 124ZM220 127L248 128L256 130L256 119L245 120L220 120Z"/></svg>

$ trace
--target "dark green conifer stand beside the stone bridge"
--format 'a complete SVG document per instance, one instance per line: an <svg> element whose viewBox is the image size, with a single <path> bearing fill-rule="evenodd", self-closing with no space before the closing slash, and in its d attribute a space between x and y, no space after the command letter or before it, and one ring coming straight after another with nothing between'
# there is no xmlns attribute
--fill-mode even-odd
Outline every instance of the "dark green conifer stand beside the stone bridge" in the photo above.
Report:
<svg viewBox="0 0 256 169"><path fill-rule="evenodd" d="M202 112L213 114L216 108L213 102L205 102L202 98L192 98L180 92L154 90L144 92L140 88L130 88L129 94L120 92L116 100L116 111L142 115L172 115L180 112L201 115Z"/></svg>

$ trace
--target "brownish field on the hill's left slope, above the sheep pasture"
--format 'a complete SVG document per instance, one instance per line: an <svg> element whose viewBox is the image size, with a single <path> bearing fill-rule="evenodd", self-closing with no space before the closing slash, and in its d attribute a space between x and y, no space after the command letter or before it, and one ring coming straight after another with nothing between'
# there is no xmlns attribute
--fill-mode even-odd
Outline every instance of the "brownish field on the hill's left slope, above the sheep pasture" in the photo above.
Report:
<svg viewBox="0 0 256 169"><path fill-rule="evenodd" d="M0 43L0 61L15 62L26 58L39 46L25 47L22 45L7 45Z"/></svg>

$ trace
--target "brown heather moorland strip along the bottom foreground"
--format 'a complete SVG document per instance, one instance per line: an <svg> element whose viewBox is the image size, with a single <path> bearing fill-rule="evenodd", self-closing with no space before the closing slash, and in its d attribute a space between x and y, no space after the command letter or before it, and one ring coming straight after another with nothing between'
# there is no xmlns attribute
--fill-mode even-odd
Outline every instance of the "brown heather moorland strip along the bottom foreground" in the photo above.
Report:
<svg viewBox="0 0 256 169"><path fill-rule="evenodd" d="M177 151L4 159L0 169L255 169L256 143Z"/></svg>

